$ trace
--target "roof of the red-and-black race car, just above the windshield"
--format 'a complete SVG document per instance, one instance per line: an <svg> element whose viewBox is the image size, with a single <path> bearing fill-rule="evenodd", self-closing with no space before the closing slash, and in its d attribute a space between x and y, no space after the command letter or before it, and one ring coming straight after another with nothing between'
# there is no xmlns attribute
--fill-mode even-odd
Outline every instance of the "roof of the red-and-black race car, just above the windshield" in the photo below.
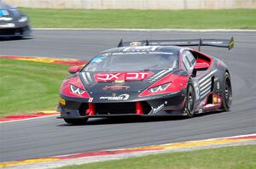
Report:
<svg viewBox="0 0 256 169"><path fill-rule="evenodd" d="M120 47L120 48L110 48L108 50L105 50L102 52L102 54L106 53L140 53L140 52L162 52L162 53L168 53L168 52L179 52L182 49L182 47L177 46L135 46L135 47Z"/></svg>

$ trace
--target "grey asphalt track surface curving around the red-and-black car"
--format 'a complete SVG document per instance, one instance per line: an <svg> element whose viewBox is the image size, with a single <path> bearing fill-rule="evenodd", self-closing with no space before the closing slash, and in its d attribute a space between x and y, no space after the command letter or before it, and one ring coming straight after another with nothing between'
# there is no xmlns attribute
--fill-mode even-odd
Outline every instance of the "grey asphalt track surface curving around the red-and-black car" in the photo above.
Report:
<svg viewBox="0 0 256 169"><path fill-rule="evenodd" d="M215 112L191 119L91 119L87 125L69 126L55 117L47 117L2 123L0 161L256 132L255 31L35 31L34 34L34 39L0 42L0 54L90 59L90 56L103 49L115 47L121 37L129 41L150 37L234 36L235 48L231 51L225 48L202 48L203 52L218 56L230 67L233 104L230 112Z"/></svg>

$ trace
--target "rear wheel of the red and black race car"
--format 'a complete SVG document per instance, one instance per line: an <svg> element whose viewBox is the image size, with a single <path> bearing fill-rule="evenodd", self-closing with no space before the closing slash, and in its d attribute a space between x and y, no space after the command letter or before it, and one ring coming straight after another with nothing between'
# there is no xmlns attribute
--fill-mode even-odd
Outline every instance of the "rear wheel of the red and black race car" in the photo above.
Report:
<svg viewBox="0 0 256 169"><path fill-rule="evenodd" d="M231 81L230 81L230 74L228 72L225 72L223 90L222 90L221 109L224 111L230 110L231 103L232 103L232 87L231 87Z"/></svg>

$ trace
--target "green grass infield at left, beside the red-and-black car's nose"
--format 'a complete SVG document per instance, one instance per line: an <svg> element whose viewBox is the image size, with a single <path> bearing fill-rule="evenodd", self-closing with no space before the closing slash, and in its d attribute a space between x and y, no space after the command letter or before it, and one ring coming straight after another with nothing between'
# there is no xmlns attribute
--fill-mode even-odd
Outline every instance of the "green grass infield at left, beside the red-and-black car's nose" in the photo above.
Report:
<svg viewBox="0 0 256 169"><path fill-rule="evenodd" d="M0 59L0 116L55 110L67 67Z"/></svg>

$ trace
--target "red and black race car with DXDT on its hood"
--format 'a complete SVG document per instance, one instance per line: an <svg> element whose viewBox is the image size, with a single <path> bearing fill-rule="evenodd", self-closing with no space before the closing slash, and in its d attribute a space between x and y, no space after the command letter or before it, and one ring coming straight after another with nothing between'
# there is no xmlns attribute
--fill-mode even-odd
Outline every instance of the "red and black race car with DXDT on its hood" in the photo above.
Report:
<svg viewBox="0 0 256 169"><path fill-rule="evenodd" d="M230 110L230 71L187 46L233 48L230 40L119 42L62 82L58 111L67 123L119 115L186 115ZM199 49L200 50L200 49Z"/></svg>

